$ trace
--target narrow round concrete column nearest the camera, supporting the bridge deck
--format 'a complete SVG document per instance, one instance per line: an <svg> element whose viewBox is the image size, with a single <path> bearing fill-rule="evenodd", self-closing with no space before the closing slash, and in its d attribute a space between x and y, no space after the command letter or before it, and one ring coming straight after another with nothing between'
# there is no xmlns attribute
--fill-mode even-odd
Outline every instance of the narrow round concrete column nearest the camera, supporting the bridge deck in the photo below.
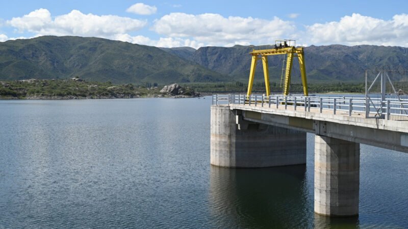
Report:
<svg viewBox="0 0 408 229"><path fill-rule="evenodd" d="M315 137L315 212L326 216L359 214L360 144Z"/></svg>

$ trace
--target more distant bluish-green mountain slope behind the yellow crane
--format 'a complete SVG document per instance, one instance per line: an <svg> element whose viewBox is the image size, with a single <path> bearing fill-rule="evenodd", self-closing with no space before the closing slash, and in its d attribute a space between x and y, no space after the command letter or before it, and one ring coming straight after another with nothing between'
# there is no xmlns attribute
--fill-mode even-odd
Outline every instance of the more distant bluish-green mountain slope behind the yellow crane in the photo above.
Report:
<svg viewBox="0 0 408 229"><path fill-rule="evenodd" d="M247 80L253 49L272 46L201 47L192 56L197 64L229 75L232 79ZM306 70L311 81L363 81L365 70L375 68L408 69L408 48L373 45L309 46L304 48ZM280 81L284 55L269 56L271 81ZM299 81L297 60L294 60L292 80ZM256 79L263 79L262 63L258 62Z"/></svg>

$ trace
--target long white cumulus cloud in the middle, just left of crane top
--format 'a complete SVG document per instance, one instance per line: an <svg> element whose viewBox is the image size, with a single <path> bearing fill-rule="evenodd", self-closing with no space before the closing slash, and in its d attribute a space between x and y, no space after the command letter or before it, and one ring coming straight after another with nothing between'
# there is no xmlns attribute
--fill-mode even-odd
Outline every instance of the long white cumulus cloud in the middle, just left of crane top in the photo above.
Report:
<svg viewBox="0 0 408 229"><path fill-rule="evenodd" d="M219 14L171 13L155 21L152 30L173 38L192 38L207 45L267 44L292 38L295 25L277 17L223 17Z"/></svg>

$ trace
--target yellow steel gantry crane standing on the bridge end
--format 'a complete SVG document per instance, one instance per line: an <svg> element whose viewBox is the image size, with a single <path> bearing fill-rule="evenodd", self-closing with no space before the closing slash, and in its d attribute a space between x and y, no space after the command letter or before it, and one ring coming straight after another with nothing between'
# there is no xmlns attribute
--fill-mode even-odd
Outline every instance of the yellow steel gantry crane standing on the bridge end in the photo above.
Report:
<svg viewBox="0 0 408 229"><path fill-rule="evenodd" d="M252 61L251 61L251 70L249 72L247 96L251 95L253 77L255 76L255 69L257 67L257 61L260 59L262 59L262 65L264 67L266 95L267 96L270 95L268 55L282 55L282 54L287 55L283 94L289 95L292 62L293 62L293 58L297 57L299 61L300 75L302 78L303 94L304 96L308 96L308 82L306 79L306 68L304 65L303 47L296 48L295 44L296 44L295 40L275 41L275 48L263 49L263 50L253 50L252 52L250 52L250 54L252 55Z"/></svg>

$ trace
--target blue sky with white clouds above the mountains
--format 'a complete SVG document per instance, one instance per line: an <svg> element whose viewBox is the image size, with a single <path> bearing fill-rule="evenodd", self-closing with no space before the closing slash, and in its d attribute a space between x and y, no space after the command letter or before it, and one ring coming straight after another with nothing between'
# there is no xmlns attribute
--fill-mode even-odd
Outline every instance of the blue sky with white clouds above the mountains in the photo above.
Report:
<svg viewBox="0 0 408 229"><path fill-rule="evenodd" d="M0 0L0 42L45 35L157 47L408 47L408 1Z"/></svg>

